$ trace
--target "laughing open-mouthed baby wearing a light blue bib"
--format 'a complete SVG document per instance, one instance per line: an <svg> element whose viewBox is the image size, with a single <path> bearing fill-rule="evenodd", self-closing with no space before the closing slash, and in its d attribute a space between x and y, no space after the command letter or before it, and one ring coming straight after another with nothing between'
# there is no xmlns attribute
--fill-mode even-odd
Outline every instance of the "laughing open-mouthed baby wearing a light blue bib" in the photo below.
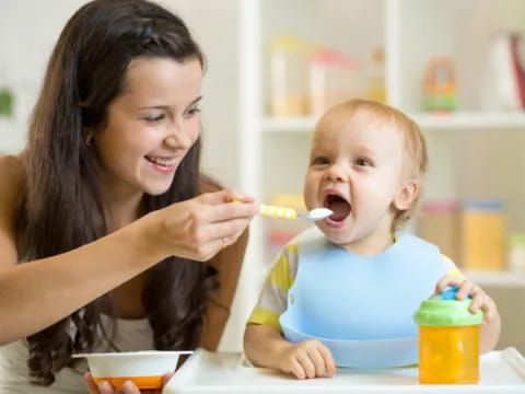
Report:
<svg viewBox="0 0 525 394"><path fill-rule="evenodd" d="M420 302L454 286L457 299L472 298L472 313L485 312L481 351L494 348L501 323L490 297L435 245L398 232L417 207L427 164L424 137L397 109L353 100L322 117L304 199L308 210L334 215L287 245L273 266L245 332L255 366L332 376L347 361L316 338L416 338Z"/></svg>

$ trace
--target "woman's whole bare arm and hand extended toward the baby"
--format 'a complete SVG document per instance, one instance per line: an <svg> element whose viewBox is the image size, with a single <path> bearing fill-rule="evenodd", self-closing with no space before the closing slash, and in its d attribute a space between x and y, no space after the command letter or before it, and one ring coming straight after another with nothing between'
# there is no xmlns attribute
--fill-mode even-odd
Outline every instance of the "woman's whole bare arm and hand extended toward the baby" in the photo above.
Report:
<svg viewBox="0 0 525 394"><path fill-rule="evenodd" d="M208 260L256 212L252 204L226 204L226 190L205 194L68 253L19 265L20 169L18 158L0 158L0 344L56 323L167 256Z"/></svg>

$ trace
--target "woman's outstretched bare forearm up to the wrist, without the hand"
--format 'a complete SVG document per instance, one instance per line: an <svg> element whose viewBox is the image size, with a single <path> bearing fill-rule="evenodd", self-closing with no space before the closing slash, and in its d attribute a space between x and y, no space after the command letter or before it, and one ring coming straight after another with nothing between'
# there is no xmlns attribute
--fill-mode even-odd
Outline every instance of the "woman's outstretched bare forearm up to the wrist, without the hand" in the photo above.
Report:
<svg viewBox="0 0 525 394"><path fill-rule="evenodd" d="M21 265L0 243L0 344L26 337L66 317L165 256L145 239L151 218L74 251Z"/></svg>

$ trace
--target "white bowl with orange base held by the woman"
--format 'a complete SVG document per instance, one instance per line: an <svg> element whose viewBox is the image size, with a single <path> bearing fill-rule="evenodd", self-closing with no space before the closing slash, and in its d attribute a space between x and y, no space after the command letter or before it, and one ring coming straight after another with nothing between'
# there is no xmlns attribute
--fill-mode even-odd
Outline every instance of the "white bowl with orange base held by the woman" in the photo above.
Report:
<svg viewBox="0 0 525 394"><path fill-rule="evenodd" d="M161 389L162 375L175 371L178 357L192 351L129 351L81 354L85 358L95 383L108 381L114 389L122 387L130 380L139 389Z"/></svg>

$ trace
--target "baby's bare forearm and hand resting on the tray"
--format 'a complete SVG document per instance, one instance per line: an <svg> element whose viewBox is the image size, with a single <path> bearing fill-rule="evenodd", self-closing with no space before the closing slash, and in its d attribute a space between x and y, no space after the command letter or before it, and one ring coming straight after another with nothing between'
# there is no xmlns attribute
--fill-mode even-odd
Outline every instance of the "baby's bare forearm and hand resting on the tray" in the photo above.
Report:
<svg viewBox="0 0 525 394"><path fill-rule="evenodd" d="M255 366L280 370L298 379L334 376L336 372L330 351L320 341L292 344L269 325L248 324L244 350Z"/></svg>

